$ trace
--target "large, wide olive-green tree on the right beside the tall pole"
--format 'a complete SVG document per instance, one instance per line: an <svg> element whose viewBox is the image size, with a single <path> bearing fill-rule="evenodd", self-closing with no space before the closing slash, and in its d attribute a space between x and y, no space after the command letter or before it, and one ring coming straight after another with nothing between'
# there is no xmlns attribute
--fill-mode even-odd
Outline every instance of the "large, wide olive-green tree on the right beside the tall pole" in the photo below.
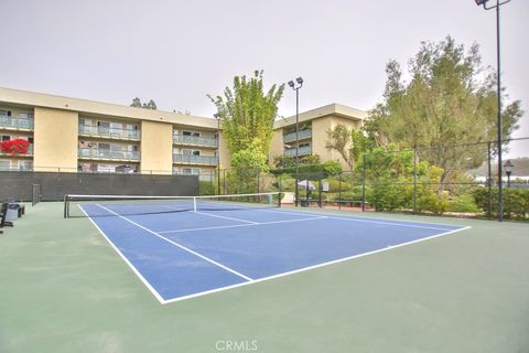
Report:
<svg viewBox="0 0 529 353"><path fill-rule="evenodd" d="M371 110L366 131L379 146L431 147L420 158L443 170L442 181L456 179L486 159L486 145L461 149L440 148L496 140L497 76L483 68L477 44L465 52L447 36L438 44L421 43L410 60L410 82L402 79L396 61L388 75L382 103ZM505 94L505 88L503 89ZM520 101L505 106L504 138L517 129Z"/></svg>

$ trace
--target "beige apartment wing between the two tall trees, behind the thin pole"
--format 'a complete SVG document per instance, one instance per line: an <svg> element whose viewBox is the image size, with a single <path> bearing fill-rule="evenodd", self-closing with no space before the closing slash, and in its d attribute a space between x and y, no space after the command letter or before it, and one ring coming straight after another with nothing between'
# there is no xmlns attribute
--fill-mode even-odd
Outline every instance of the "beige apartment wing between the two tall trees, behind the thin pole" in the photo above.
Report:
<svg viewBox="0 0 529 353"><path fill-rule="evenodd" d="M338 161L344 168L346 161L333 149L326 148L327 131L342 124L348 129L358 130L367 113L339 104L331 104L299 114L299 129L295 129L295 116L277 120L269 159L277 156L295 157L296 136L298 156L317 154L322 162Z"/></svg>

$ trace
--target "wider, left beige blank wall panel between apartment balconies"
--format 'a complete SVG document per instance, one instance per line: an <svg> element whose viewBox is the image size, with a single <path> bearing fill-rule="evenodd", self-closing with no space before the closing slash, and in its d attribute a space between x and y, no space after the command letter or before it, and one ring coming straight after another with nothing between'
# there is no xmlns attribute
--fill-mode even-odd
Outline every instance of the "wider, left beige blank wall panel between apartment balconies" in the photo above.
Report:
<svg viewBox="0 0 529 353"><path fill-rule="evenodd" d="M77 172L77 113L39 107L34 113L34 170Z"/></svg>

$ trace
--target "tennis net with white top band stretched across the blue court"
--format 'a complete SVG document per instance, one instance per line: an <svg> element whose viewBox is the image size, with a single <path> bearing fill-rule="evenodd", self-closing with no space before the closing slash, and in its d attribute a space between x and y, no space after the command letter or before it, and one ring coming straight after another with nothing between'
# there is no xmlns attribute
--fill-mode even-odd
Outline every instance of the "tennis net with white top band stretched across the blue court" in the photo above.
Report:
<svg viewBox="0 0 529 353"><path fill-rule="evenodd" d="M65 195L64 217L105 217L198 211L236 211L281 206L279 192L207 195Z"/></svg>

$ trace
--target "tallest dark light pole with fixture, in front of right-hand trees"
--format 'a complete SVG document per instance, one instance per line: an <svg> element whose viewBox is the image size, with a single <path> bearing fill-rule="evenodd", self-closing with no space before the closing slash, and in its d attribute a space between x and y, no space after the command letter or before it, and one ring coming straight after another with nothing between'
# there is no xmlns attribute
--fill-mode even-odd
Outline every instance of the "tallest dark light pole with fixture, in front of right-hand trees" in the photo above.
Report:
<svg viewBox="0 0 529 353"><path fill-rule="evenodd" d="M503 122L501 122L501 66L500 66L500 41L499 41L499 7L510 0L499 1L496 4L487 6L489 0L475 0L477 6L483 6L485 10L496 9L496 61L498 71L498 221L504 221L504 186L501 181L501 145L503 145Z"/></svg>

